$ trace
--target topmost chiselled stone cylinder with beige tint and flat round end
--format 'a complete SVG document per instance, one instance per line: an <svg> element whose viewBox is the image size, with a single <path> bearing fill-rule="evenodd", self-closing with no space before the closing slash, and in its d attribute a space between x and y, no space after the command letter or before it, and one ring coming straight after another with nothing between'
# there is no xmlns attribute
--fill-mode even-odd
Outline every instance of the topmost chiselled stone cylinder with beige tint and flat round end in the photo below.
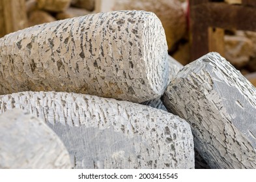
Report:
<svg viewBox="0 0 256 182"><path fill-rule="evenodd" d="M0 94L54 90L140 103L164 93L166 57L152 12L54 21L0 39Z"/></svg>

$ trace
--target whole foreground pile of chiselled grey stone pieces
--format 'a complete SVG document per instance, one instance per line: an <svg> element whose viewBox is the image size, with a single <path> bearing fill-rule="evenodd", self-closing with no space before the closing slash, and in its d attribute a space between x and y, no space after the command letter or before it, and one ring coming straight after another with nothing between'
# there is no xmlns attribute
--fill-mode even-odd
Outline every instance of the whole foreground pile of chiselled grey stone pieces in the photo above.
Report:
<svg viewBox="0 0 256 182"><path fill-rule="evenodd" d="M152 12L0 39L0 168L255 168L255 109L255 87L218 53L169 57Z"/></svg>

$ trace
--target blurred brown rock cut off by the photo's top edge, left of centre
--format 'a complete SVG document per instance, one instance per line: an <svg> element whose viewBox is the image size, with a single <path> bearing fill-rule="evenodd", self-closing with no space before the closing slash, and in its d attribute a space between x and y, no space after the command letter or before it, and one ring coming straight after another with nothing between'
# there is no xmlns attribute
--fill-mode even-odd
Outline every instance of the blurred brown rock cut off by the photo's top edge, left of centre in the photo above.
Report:
<svg viewBox="0 0 256 182"><path fill-rule="evenodd" d="M51 12L61 12L70 6L71 0L36 0L38 8Z"/></svg>

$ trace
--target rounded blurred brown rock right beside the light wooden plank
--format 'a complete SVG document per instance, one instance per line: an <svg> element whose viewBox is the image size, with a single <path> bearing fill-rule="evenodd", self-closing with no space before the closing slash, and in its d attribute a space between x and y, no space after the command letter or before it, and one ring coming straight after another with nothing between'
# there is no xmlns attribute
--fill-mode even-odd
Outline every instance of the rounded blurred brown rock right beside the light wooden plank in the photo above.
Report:
<svg viewBox="0 0 256 182"><path fill-rule="evenodd" d="M42 10L35 10L29 14L29 26L39 25L42 23L50 23L56 21L51 14Z"/></svg>

